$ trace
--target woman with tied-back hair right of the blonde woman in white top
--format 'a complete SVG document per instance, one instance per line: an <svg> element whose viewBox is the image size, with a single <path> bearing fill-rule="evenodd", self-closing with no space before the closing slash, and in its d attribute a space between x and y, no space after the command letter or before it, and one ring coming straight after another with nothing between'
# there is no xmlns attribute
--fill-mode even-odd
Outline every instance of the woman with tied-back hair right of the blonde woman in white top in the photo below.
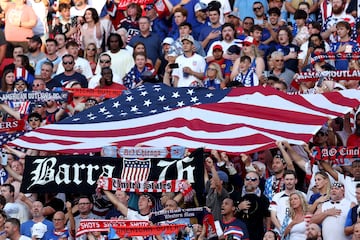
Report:
<svg viewBox="0 0 360 240"><path fill-rule="evenodd" d="M312 194L309 200L309 212L314 213L317 206L330 197L330 178L325 171L315 173L315 188L316 193Z"/></svg>

